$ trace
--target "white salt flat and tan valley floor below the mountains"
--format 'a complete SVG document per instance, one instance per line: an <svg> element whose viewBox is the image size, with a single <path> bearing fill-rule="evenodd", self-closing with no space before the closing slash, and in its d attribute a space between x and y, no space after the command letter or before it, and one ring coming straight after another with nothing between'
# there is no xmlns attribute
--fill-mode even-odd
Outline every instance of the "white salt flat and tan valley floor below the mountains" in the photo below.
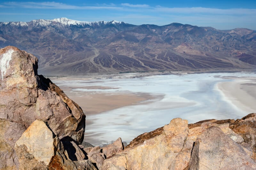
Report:
<svg viewBox="0 0 256 170"><path fill-rule="evenodd" d="M50 77L86 115L86 142L129 143L176 117L194 123L256 111L256 73ZM121 135L122 134L122 135Z"/></svg>

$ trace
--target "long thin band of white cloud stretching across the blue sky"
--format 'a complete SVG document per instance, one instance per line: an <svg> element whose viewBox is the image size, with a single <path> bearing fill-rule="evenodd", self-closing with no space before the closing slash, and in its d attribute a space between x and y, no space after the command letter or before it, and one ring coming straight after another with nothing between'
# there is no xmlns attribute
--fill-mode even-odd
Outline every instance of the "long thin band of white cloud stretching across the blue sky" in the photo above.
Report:
<svg viewBox="0 0 256 170"><path fill-rule="evenodd" d="M143 8L139 12L157 12L172 13L172 14L209 14L209 15L256 15L256 9L218 9L218 8L204 8L204 7L190 7L190 8L168 8L157 5L155 7L148 4L96 4L95 6L76 6L68 5L58 2L8 2L0 5L1 8L19 7L19 8L37 8L37 9L63 9L63 10L123 10L123 11L138 11L138 8Z"/></svg>

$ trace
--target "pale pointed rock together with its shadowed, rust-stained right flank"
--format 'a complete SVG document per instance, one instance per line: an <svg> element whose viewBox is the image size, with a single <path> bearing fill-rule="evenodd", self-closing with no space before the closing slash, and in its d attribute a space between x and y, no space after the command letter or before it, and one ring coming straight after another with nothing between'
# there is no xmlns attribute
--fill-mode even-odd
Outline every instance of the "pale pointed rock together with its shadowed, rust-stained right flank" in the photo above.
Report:
<svg viewBox="0 0 256 170"><path fill-rule="evenodd" d="M16 141L19 169L96 169L74 141L60 140L36 120Z"/></svg>

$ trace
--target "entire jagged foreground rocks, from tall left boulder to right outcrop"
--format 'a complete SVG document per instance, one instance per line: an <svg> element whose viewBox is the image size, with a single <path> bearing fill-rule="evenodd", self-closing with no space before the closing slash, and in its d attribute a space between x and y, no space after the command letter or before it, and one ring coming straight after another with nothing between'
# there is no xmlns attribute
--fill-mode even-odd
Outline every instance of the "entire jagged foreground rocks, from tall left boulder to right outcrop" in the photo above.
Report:
<svg viewBox="0 0 256 170"><path fill-rule="evenodd" d="M85 115L35 56L0 49L0 169L256 169L256 114L168 125L103 148L81 145Z"/></svg>

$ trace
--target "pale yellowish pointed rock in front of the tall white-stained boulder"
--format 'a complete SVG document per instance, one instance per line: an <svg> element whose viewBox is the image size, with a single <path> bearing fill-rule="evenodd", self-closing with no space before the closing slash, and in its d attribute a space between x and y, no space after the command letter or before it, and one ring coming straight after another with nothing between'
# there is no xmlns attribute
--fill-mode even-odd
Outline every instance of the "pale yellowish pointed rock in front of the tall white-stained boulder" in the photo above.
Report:
<svg viewBox="0 0 256 170"><path fill-rule="evenodd" d="M33 122L16 141L15 151L18 155L19 169L47 169L54 156L58 137L39 120Z"/></svg>

